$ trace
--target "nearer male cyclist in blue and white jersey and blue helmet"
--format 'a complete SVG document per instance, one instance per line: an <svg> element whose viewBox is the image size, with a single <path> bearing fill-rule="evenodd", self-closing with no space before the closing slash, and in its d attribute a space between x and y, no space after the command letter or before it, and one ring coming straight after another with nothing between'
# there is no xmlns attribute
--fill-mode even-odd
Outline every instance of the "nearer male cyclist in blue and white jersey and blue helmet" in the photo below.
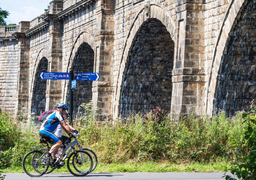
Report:
<svg viewBox="0 0 256 180"><path fill-rule="evenodd" d="M47 116L46 120L43 122L40 128L39 136L53 144L48 154L43 157L45 159L45 164L47 165L51 164L51 155L53 155L53 159L56 160L55 155L59 147L62 145L61 140L56 135L54 135L54 131L56 130L57 126L60 124L67 134L73 134L73 131L70 129L69 125L64 121L63 115L65 115L66 110L68 110L66 104L57 103L56 110Z"/></svg>

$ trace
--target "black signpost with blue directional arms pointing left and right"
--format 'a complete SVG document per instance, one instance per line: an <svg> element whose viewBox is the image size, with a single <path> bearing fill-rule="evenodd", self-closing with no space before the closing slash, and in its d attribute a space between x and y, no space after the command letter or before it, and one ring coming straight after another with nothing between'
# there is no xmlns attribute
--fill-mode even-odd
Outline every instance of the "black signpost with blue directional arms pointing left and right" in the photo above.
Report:
<svg viewBox="0 0 256 180"><path fill-rule="evenodd" d="M76 81L98 81L100 78L97 72L75 72L73 68L70 68L69 72L41 72L41 79L64 79L69 80L69 112L70 121L69 124L73 125L73 89L76 87Z"/></svg>

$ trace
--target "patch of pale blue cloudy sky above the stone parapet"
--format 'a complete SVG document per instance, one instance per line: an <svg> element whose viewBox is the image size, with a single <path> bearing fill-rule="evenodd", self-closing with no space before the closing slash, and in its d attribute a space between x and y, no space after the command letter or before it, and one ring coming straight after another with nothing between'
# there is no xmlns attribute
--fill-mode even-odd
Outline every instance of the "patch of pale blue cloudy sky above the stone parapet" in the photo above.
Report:
<svg viewBox="0 0 256 180"><path fill-rule="evenodd" d="M7 24L30 21L44 13L51 0L0 0L2 10L9 11L5 19Z"/></svg>

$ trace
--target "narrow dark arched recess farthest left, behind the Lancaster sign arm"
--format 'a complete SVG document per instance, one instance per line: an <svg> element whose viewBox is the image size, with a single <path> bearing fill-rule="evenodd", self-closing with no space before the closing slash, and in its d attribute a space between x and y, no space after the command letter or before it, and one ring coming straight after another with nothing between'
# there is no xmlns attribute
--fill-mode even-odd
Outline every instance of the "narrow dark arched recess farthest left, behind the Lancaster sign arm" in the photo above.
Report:
<svg viewBox="0 0 256 180"><path fill-rule="evenodd" d="M43 57L37 67L34 88L33 88L33 97L31 104L31 113L34 113L35 116L40 116L42 112L45 111L45 102L46 102L46 87L47 80L40 78L41 72L48 71L48 60Z"/></svg>

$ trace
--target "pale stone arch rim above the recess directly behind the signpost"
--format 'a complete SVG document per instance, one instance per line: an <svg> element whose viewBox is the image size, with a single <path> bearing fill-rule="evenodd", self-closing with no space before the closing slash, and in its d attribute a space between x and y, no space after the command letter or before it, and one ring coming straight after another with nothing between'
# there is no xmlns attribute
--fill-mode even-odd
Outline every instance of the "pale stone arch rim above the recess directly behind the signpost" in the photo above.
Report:
<svg viewBox="0 0 256 180"><path fill-rule="evenodd" d="M66 67L66 72L69 72L69 68L71 67L72 61L73 61L76 53L78 52L80 45L83 44L83 43L87 43L92 48L92 50L95 52L95 39L94 39L93 34L88 32L88 31L81 32L76 37L76 39L74 41L74 44L72 46L70 56L69 56L69 59L68 59L68 64L67 64L67 67ZM67 84L68 84L68 81L65 81L65 83L64 83L64 94L63 94L63 97L62 97L63 102L67 101L66 100L67 90L68 90L68 88L66 88Z"/></svg>

